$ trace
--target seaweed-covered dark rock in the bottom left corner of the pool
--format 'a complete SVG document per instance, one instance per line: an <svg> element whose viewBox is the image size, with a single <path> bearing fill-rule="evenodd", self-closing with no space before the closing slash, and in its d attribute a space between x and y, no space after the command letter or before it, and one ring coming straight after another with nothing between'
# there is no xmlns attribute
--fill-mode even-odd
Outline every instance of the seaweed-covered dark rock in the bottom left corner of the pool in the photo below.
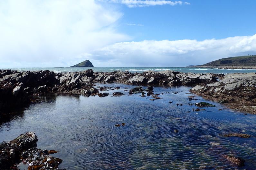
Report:
<svg viewBox="0 0 256 170"><path fill-rule="evenodd" d="M37 141L35 132L27 132L8 143L0 143L0 169L17 169L20 162L28 164L28 169L58 168L62 160L37 149Z"/></svg>

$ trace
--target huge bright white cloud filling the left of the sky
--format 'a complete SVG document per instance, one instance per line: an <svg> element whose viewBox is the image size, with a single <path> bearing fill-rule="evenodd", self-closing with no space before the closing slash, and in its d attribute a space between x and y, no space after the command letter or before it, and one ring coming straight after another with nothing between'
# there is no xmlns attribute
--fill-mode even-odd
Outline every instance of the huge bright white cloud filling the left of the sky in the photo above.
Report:
<svg viewBox="0 0 256 170"><path fill-rule="evenodd" d="M0 1L0 67L56 67L130 40L116 30L122 13L94 0Z"/></svg>

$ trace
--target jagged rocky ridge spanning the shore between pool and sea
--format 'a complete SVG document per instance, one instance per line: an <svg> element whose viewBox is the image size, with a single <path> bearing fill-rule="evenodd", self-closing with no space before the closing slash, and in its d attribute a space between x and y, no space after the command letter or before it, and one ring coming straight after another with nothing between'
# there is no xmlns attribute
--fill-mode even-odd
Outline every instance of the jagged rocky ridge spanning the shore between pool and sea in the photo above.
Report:
<svg viewBox="0 0 256 170"><path fill-rule="evenodd" d="M214 99L233 109L256 114L256 73L183 73L174 71L142 73L131 72L83 72L55 73L50 71L0 70L0 114L29 106L36 95L49 92L99 95L106 87L94 87L94 83L123 83L149 86L193 86L191 92ZM138 89L144 91L143 89ZM131 91L136 93L136 91ZM144 92L144 94L146 94ZM143 94L143 95L144 95ZM122 94L116 94L122 95ZM147 90L147 95L154 95Z"/></svg>

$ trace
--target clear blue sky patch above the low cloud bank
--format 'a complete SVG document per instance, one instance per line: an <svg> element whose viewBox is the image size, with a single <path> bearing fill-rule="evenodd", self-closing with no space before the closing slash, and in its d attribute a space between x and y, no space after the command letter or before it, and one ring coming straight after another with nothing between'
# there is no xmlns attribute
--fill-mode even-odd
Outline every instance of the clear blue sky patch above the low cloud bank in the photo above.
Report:
<svg viewBox="0 0 256 170"><path fill-rule="evenodd" d="M256 1L193 0L190 5L156 5L129 8L119 29L141 40L220 39L254 35L256 30ZM129 26L124 23L142 24Z"/></svg>

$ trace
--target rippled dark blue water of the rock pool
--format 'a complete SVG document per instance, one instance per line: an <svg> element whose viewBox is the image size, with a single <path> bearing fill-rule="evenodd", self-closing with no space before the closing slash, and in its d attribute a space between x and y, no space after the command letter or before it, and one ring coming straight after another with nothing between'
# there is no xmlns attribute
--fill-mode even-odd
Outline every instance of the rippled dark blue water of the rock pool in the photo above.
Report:
<svg viewBox="0 0 256 170"><path fill-rule="evenodd" d="M198 100L189 101L190 87L155 87L162 99L151 101L124 91L135 86L100 86L120 89L107 91L111 95L104 98L51 94L11 119L1 118L0 142L35 131L38 148L61 150L52 156L63 160L60 168L68 169L255 169L256 115L194 94ZM115 91L125 95L112 97ZM216 107L192 111L197 107L188 105L201 101ZM224 133L247 133L251 138ZM242 157L246 166L233 166L223 154Z"/></svg>

